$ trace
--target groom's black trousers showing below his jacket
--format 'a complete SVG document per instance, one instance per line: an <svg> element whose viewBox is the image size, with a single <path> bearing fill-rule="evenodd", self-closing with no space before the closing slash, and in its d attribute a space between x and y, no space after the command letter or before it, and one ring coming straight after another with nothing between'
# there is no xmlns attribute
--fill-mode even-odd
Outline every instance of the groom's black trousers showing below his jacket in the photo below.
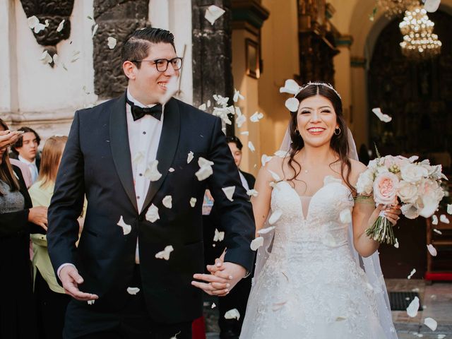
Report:
<svg viewBox="0 0 452 339"><path fill-rule="evenodd" d="M93 311L71 301L66 311L64 339L191 339L191 321L156 323L146 309L140 268L133 270L132 286L140 292L131 296L126 307L117 311Z"/></svg>

